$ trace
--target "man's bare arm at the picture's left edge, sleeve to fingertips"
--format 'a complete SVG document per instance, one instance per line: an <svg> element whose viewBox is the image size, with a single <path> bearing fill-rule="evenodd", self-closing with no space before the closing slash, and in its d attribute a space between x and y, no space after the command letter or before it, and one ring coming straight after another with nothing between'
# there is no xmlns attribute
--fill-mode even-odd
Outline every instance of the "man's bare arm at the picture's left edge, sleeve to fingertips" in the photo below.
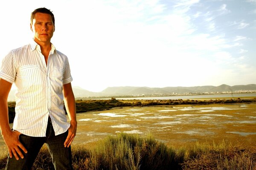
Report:
<svg viewBox="0 0 256 170"><path fill-rule="evenodd" d="M27 150L19 141L20 132L13 132L9 126L7 98L12 88L12 83L7 82L4 79L0 79L0 87L0 130L4 142L8 147L10 157L12 158L12 156L15 156L18 160L19 156L20 158L24 157L21 150L25 153L27 153Z"/></svg>

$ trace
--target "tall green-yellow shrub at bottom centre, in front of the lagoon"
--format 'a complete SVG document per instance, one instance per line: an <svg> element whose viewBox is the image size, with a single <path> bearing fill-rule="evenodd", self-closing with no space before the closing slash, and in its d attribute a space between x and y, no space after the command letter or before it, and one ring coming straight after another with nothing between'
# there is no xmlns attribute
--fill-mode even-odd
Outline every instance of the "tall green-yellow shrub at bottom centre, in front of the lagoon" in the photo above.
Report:
<svg viewBox="0 0 256 170"><path fill-rule="evenodd" d="M108 136L95 149L99 169L104 170L165 170L175 163L175 151L157 142L151 135L119 133Z"/></svg>

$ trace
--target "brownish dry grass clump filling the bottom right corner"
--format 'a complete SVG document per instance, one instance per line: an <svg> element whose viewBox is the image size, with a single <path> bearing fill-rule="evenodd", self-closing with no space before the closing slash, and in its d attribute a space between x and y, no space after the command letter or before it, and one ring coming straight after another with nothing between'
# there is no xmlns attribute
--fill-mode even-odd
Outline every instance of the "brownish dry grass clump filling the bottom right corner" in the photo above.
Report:
<svg viewBox="0 0 256 170"><path fill-rule="evenodd" d="M256 170L256 148L232 146L225 142L209 145L203 150L198 146L193 151L197 156L185 161L183 170Z"/></svg>

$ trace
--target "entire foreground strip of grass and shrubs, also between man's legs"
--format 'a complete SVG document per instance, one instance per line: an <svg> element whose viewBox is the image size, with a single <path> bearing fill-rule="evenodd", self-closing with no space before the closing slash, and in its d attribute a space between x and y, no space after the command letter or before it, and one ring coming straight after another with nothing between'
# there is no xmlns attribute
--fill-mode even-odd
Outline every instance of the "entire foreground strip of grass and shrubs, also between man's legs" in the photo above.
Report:
<svg viewBox="0 0 256 170"><path fill-rule="evenodd" d="M256 170L256 148L233 146L224 141L174 148L149 134L119 133L99 141L87 150L73 146L74 170ZM0 158L0 169L6 158ZM47 147L43 147L32 170L53 170Z"/></svg>

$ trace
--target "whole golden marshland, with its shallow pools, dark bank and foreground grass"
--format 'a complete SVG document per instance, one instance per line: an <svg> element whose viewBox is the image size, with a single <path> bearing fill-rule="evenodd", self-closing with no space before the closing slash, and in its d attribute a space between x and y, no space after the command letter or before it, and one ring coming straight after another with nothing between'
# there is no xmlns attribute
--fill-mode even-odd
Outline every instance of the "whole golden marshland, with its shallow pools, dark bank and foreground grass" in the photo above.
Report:
<svg viewBox="0 0 256 170"><path fill-rule="evenodd" d="M77 105L84 108L86 102ZM198 101L92 100L93 111L77 114L74 168L256 169L255 99L188 102ZM105 108L95 109L96 104ZM6 154L0 166L5 159ZM51 166L44 147L34 167Z"/></svg>

